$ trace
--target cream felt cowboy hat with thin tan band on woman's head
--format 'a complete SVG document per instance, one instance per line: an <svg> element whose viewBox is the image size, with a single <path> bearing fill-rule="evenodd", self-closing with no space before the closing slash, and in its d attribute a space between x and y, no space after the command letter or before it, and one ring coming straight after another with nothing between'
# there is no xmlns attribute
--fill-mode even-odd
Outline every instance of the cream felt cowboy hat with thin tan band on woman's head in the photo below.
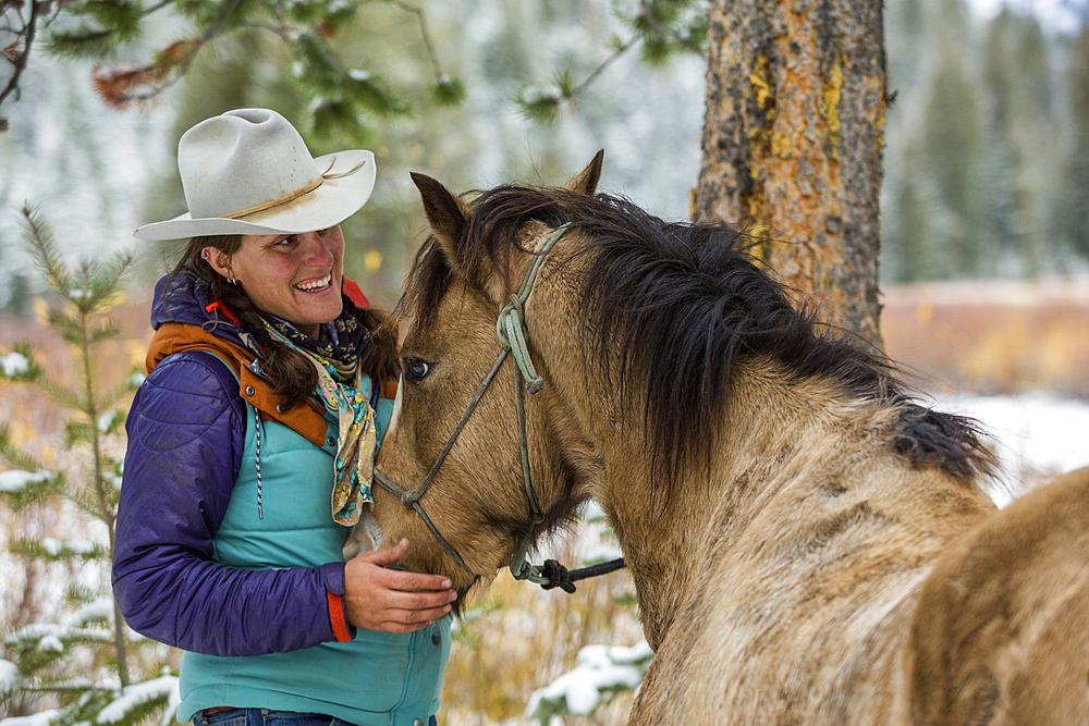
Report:
<svg viewBox="0 0 1089 726"><path fill-rule="evenodd" d="M178 143L178 171L189 211L134 236L325 230L357 212L375 188L374 153L315 159L287 120L268 109L228 111L189 128Z"/></svg>

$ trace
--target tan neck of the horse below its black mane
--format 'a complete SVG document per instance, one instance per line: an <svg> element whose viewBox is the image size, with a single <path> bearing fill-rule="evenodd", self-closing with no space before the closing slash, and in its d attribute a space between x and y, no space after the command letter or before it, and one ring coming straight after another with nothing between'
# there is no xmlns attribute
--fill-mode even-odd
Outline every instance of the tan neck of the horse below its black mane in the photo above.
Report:
<svg viewBox="0 0 1089 726"><path fill-rule="evenodd" d="M657 647L700 590L703 563L730 556L731 543L780 492L842 455L845 440L865 440L891 413L860 405L834 381L799 382L769 360L750 358L734 371L710 460L683 465L665 482L653 473L643 387L634 382L622 395L619 373L602 370L576 332L584 324L578 284L588 261L553 255L527 320L538 371L550 381L556 443L576 470L576 489L597 500L616 532L644 629Z"/></svg>

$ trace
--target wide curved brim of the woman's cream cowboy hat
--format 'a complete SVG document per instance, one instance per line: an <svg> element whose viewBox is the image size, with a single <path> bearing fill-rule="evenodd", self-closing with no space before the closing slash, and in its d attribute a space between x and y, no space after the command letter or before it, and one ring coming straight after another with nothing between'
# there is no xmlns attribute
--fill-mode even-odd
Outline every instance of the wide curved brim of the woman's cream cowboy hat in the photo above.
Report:
<svg viewBox="0 0 1089 726"><path fill-rule="evenodd" d="M193 219L188 212L164 222L145 224L133 236L149 242L183 239L221 234L297 234L325 230L340 224L359 211L375 189L375 155L362 149L338 151L318 157L314 162L320 169L332 167L326 175L345 174L363 162L354 172L344 176L326 179L311 192L271 209L248 214L245 219L207 217Z"/></svg>

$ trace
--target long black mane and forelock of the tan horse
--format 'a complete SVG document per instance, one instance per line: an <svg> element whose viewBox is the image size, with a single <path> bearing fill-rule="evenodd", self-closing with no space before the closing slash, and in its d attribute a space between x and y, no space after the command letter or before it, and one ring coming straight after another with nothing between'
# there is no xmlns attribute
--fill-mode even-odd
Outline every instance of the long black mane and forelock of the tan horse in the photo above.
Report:
<svg viewBox="0 0 1089 726"><path fill-rule="evenodd" d="M828 377L854 396L898 413L896 451L913 466L938 466L967 481L990 473L993 457L974 421L914 404L880 350L792 306L786 288L762 272L744 234L721 224L665 222L620 197L559 188L501 186L473 202L458 246L468 267L487 255L510 276L528 222L570 224L587 239L582 288L591 345L605 360L619 344L616 384L640 382L659 472L673 480L686 460L710 462L717 422L735 365L761 355L796 380ZM409 272L402 309L428 324L451 271L433 239ZM607 369L608 370L608 369Z"/></svg>

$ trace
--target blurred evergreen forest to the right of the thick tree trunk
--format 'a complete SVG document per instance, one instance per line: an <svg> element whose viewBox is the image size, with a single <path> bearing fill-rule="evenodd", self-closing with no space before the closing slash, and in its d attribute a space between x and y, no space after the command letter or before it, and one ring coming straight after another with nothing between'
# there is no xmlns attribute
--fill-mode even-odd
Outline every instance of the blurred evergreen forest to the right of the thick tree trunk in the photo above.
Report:
<svg viewBox="0 0 1089 726"><path fill-rule="evenodd" d="M1084 272L1089 256L1089 23L1045 29L1004 7L886 3L886 282Z"/></svg>

